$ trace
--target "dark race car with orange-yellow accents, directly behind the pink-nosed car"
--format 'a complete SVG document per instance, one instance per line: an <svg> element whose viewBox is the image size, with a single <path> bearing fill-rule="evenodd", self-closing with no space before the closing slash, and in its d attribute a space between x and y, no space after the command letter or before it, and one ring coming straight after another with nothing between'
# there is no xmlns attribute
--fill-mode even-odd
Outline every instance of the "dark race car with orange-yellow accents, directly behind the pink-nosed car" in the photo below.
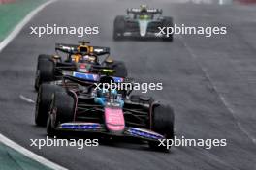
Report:
<svg viewBox="0 0 256 170"><path fill-rule="evenodd" d="M126 77L127 69L121 61L113 61L110 58L110 48L90 46L89 42L80 44L56 43L57 55L39 55L35 78L35 89L38 90L44 82L59 80L65 74L77 72L97 73L106 70L114 70L115 76ZM67 54L65 60L58 52ZM103 58L100 58L103 56ZM105 56L105 57L104 57Z"/></svg>

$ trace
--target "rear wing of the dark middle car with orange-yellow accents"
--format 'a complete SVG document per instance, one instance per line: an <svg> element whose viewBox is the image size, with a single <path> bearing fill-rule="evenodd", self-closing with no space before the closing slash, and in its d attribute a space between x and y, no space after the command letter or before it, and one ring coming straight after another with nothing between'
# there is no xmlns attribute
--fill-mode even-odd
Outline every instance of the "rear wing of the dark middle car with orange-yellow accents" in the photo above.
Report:
<svg viewBox="0 0 256 170"><path fill-rule="evenodd" d="M56 43L55 50L61 51L64 53L69 54L76 54L76 53L93 53L96 55L105 55L110 54L110 47L103 47L103 46L90 46L90 45L77 45L77 44L66 44L66 43Z"/></svg>

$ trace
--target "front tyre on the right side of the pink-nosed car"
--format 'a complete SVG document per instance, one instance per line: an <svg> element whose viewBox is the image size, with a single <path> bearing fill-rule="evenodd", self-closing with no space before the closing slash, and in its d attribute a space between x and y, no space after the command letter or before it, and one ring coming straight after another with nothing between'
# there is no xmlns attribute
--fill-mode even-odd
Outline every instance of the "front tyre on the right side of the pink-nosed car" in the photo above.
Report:
<svg viewBox="0 0 256 170"><path fill-rule="evenodd" d="M152 130L165 136L166 139L174 139L175 114L172 107L168 105L156 105L152 113ZM169 151L166 146L159 146L160 142L149 141L152 149L159 151Z"/></svg>

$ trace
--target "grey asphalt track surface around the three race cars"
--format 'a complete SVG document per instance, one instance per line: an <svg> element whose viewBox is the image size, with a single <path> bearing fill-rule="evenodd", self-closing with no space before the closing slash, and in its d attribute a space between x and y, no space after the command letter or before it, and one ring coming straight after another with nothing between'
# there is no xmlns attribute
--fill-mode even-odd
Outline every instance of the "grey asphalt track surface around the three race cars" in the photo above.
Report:
<svg viewBox="0 0 256 170"><path fill-rule="evenodd" d="M228 34L204 38L176 36L175 42L112 41L112 20L141 1L58 1L37 14L0 54L0 132L18 144L69 169L256 169L256 9L254 6L171 4L163 8L176 23L221 25ZM37 56L53 53L55 42L77 42L76 36L29 35L29 26L47 23L100 27L87 39L112 48L112 57L125 61L132 77L163 82L163 91L150 92L176 110L176 135L186 138L226 138L226 147L174 147L169 154L146 144L114 143L99 147L30 147L29 139L45 138L34 125L33 89Z"/></svg>

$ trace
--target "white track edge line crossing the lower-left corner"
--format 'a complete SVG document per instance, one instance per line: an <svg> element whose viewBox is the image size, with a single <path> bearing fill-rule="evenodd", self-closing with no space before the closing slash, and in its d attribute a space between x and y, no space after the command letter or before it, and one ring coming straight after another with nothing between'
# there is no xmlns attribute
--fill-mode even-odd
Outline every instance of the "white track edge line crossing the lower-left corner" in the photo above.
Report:
<svg viewBox="0 0 256 170"><path fill-rule="evenodd" d="M31 151L25 149L24 147L16 144L14 141L8 139L6 136L0 134L0 142L2 142L3 144L5 144L6 146L16 150L17 152L19 152L20 154L27 156L33 160L36 160L37 162L47 166L50 169L56 169L56 170L68 170L67 168L64 168L60 165L57 165L51 161L49 161L48 159L42 157L42 156L38 156L35 153L32 153Z"/></svg>

